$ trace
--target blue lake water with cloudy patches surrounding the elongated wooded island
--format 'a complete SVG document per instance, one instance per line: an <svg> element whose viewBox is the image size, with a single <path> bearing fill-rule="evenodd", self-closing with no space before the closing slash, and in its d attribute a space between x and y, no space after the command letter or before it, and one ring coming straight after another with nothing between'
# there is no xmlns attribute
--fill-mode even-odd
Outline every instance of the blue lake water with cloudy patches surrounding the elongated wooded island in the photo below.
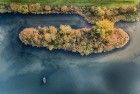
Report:
<svg viewBox="0 0 140 94"><path fill-rule="evenodd" d="M118 23L130 35L128 46L89 56L25 46L18 38L25 27L60 24L91 26L75 14L0 14L0 94L139 94L140 22Z"/></svg>

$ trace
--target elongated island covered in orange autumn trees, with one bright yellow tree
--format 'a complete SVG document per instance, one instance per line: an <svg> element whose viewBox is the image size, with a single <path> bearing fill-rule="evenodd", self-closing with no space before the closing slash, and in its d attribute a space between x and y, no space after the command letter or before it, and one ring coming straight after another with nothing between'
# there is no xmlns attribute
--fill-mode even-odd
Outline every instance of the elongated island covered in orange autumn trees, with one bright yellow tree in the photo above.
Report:
<svg viewBox="0 0 140 94"><path fill-rule="evenodd" d="M107 19L97 21L92 28L73 29L69 25L25 28L19 38L26 45L64 49L81 55L111 51L129 41L128 34Z"/></svg>

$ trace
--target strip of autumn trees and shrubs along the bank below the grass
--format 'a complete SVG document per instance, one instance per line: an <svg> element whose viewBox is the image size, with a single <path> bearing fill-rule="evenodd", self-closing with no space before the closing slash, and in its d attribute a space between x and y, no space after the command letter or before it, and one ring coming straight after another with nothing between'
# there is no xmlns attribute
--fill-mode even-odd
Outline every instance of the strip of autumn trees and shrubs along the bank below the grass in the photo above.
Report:
<svg viewBox="0 0 140 94"><path fill-rule="evenodd" d="M113 8L101 7L101 6L50 6L47 4L21 4L11 3L1 5L0 13L21 13L21 14L50 14L50 13L65 13L65 14L78 14L84 19L88 20L89 23L94 24L96 20L109 19L113 22L117 21L138 21L139 6L138 5L124 5L114 6Z"/></svg>

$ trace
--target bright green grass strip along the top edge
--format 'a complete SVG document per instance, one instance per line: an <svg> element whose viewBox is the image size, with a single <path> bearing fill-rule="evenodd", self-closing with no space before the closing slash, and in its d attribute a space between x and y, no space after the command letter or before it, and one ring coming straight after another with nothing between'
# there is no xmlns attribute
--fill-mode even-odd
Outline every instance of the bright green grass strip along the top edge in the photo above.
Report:
<svg viewBox="0 0 140 94"><path fill-rule="evenodd" d="M78 5L78 6L120 6L120 5L133 5L140 0L0 0L0 3L45 3L48 5Z"/></svg>

